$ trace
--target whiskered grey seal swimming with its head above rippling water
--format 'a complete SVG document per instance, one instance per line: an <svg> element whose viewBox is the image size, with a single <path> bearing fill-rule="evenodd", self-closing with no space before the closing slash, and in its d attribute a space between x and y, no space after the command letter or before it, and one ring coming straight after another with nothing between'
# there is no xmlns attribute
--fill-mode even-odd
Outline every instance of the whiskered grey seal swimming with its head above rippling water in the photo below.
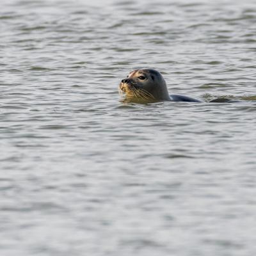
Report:
<svg viewBox="0 0 256 256"><path fill-rule="evenodd" d="M201 102L184 95L169 95L164 77L152 68L132 70L120 82L119 90L125 93L125 101L130 102Z"/></svg>

